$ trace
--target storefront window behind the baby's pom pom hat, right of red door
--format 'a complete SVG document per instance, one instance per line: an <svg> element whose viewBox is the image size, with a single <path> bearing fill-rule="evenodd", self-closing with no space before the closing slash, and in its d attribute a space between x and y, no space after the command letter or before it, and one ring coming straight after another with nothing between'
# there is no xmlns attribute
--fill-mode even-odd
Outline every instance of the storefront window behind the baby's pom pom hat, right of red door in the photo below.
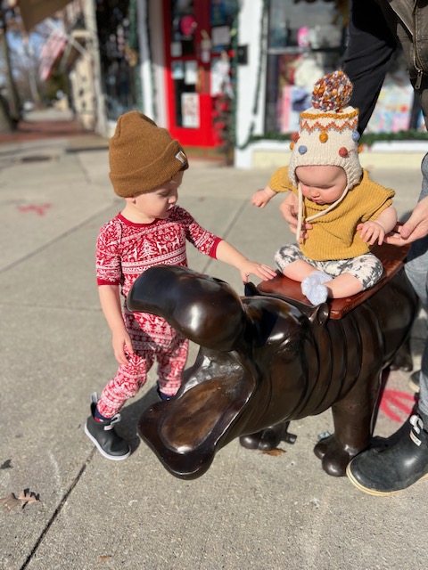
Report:
<svg viewBox="0 0 428 570"><path fill-rule="evenodd" d="M338 68L344 33L335 2L270 0L265 131L288 134L317 80Z"/></svg>

